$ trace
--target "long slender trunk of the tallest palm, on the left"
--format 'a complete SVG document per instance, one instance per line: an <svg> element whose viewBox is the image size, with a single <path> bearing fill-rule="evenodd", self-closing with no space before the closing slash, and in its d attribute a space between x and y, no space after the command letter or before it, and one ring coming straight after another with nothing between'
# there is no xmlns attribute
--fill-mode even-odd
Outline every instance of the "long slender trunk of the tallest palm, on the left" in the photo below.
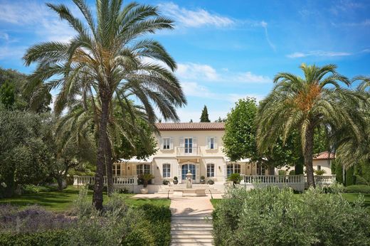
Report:
<svg viewBox="0 0 370 246"><path fill-rule="evenodd" d="M93 205L97 210L102 210L102 190L104 187L105 151L107 149L107 122L109 117L109 100L101 97L102 113L99 124L99 141L97 144L97 161L95 171L95 186Z"/></svg>

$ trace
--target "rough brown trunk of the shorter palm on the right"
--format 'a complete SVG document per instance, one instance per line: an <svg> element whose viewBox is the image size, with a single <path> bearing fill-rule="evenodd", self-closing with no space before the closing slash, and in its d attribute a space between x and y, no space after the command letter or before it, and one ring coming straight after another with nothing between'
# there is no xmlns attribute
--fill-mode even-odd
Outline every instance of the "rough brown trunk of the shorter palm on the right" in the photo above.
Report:
<svg viewBox="0 0 370 246"><path fill-rule="evenodd" d="M303 149L303 156L305 157L305 166L307 172L308 186L315 187L314 184L314 168L312 166L313 147L314 147L314 127L310 126L306 130L305 149Z"/></svg>

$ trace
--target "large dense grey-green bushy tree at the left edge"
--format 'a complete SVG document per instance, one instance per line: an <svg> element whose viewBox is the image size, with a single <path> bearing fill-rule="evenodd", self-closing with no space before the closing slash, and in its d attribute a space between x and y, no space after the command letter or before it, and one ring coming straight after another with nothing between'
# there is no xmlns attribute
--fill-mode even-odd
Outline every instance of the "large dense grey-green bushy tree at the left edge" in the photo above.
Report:
<svg viewBox="0 0 370 246"><path fill-rule="evenodd" d="M52 156L46 117L0 108L0 183L6 184L0 196L12 196L19 184L37 184L48 177Z"/></svg>

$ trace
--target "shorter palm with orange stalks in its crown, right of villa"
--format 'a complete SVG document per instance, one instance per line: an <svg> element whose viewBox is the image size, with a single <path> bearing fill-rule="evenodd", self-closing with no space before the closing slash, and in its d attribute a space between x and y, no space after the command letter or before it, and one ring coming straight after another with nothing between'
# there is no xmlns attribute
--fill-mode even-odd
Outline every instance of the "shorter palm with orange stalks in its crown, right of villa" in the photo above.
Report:
<svg viewBox="0 0 370 246"><path fill-rule="evenodd" d="M300 133L302 154L305 159L307 183L314 184L312 155L314 129L324 127L336 132L344 126L352 136L360 139L361 117L355 110L359 105L358 93L345 89L350 85L347 77L337 73L336 65L300 66L305 77L291 73L278 73L276 84L268 97L260 102L258 112L258 149L263 151L275 143L279 136L286 139L290 132Z"/></svg>

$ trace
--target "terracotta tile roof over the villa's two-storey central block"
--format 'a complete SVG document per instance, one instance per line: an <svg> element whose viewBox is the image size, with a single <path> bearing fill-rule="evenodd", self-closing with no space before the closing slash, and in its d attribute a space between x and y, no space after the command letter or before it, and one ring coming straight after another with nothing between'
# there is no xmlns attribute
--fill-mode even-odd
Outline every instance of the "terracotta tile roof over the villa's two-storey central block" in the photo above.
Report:
<svg viewBox="0 0 370 246"><path fill-rule="evenodd" d="M223 131L223 122L157 123L159 131Z"/></svg>

